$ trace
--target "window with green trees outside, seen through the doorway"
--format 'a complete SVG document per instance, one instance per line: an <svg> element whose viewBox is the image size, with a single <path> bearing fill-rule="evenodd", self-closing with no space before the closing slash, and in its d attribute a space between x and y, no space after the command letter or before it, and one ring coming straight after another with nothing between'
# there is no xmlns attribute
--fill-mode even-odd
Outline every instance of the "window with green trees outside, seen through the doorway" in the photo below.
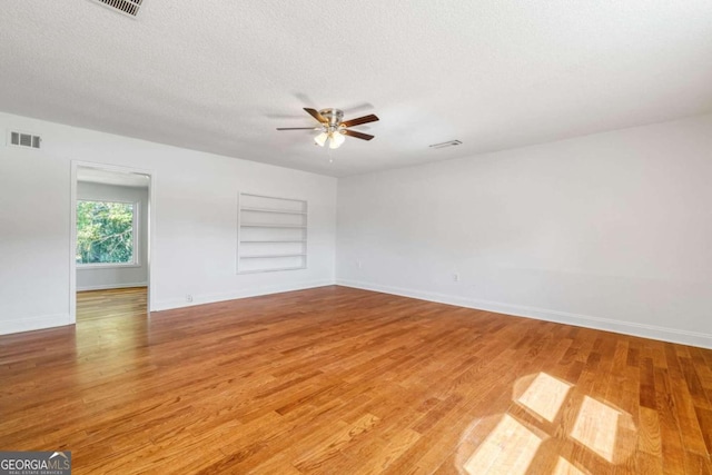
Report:
<svg viewBox="0 0 712 475"><path fill-rule="evenodd" d="M138 204L77 201L77 265L138 265Z"/></svg>

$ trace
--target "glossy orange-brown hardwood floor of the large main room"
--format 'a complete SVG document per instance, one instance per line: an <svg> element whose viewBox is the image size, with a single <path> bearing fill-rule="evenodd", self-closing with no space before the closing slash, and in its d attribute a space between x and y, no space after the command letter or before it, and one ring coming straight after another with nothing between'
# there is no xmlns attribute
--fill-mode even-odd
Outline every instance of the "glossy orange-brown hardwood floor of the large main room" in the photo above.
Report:
<svg viewBox="0 0 712 475"><path fill-rule="evenodd" d="M0 337L76 474L710 474L712 350L344 287Z"/></svg>

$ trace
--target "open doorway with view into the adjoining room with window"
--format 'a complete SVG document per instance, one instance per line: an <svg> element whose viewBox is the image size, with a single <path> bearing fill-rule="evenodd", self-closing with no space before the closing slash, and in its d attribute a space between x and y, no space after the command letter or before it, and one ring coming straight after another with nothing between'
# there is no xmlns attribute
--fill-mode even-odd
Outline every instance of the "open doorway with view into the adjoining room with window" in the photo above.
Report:
<svg viewBox="0 0 712 475"><path fill-rule="evenodd" d="M72 164L72 323L148 316L151 181L146 170Z"/></svg>

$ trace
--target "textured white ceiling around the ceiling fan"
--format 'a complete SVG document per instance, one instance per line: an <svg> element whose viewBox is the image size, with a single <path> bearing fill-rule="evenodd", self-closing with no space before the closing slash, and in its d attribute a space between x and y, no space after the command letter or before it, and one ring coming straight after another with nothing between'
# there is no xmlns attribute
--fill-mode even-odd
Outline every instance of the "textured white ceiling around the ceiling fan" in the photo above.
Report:
<svg viewBox="0 0 712 475"><path fill-rule="evenodd" d="M711 111L712 1L3 0L0 85L7 112L346 176ZM329 162L275 130L304 107L376 138Z"/></svg>

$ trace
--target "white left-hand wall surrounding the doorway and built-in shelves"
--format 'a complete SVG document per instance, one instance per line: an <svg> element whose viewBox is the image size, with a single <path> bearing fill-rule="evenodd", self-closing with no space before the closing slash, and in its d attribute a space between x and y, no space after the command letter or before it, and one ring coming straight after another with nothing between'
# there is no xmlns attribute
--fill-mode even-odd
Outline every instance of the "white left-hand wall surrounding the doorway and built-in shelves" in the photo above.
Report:
<svg viewBox="0 0 712 475"><path fill-rule="evenodd" d="M0 112L8 129L43 141L0 145L2 334L70 320L71 160L152 172L152 310L334 281L334 178ZM308 200L308 269L236 274L238 191Z"/></svg>

